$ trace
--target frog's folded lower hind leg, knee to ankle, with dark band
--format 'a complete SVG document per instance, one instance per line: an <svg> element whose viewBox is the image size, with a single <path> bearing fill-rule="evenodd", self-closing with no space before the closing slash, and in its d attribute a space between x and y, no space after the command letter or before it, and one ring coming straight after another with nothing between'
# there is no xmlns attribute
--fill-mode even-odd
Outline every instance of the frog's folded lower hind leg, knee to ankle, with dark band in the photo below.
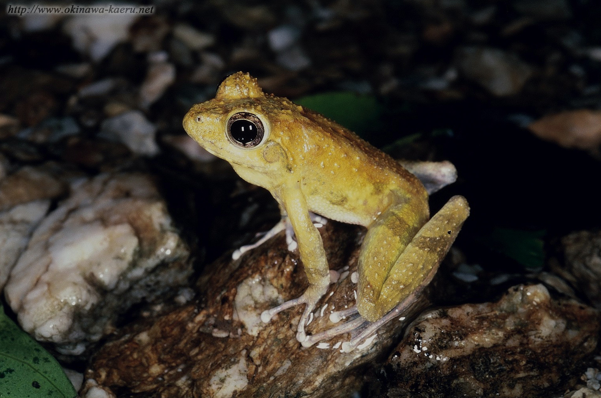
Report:
<svg viewBox="0 0 601 398"><path fill-rule="evenodd" d="M469 206L465 197L451 197L447 204L419 229L415 237L404 247L394 264L391 265L375 300L364 300L361 293L371 292L370 290L361 291L361 286L359 286L357 302L359 313L365 319L373 322L397 306L413 291L429 283L433 276L431 271L438 268L447 255L468 216ZM363 301L368 305L366 306ZM362 312L362 309L365 313Z"/></svg>

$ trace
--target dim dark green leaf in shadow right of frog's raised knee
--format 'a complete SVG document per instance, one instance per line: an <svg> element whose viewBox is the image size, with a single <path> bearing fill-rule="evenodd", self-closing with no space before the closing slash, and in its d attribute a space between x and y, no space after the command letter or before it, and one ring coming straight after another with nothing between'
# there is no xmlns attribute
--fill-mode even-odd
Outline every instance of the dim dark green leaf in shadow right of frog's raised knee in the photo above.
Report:
<svg viewBox="0 0 601 398"><path fill-rule="evenodd" d="M523 231L521 229L495 228L489 235L480 237L490 249L513 258L527 269L540 269L545 263L546 231Z"/></svg>

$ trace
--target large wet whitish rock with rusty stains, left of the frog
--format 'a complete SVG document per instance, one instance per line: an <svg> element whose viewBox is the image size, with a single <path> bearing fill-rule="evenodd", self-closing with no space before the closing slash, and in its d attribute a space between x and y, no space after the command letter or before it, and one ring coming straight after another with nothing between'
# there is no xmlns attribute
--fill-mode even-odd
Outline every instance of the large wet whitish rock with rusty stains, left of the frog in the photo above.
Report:
<svg viewBox="0 0 601 398"><path fill-rule="evenodd" d="M76 179L35 229L5 296L26 332L79 355L130 306L183 285L187 256L147 176Z"/></svg>

